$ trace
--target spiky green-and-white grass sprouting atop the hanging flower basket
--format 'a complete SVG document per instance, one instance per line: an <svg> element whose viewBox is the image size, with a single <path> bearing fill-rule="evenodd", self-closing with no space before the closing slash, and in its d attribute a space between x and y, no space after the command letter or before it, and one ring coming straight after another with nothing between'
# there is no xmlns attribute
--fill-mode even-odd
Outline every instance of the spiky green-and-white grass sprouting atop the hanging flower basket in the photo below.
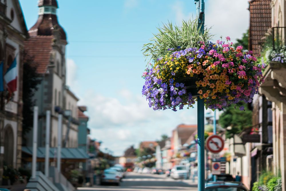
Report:
<svg viewBox="0 0 286 191"><path fill-rule="evenodd" d="M161 56L166 55L168 50L175 48L176 50L184 50L190 47L198 47L197 42L208 42L213 35L210 29L204 29L204 34L198 30L198 20L182 21L182 26L173 25L172 22L163 24L163 27L157 27L158 33L150 39L150 43L143 45L143 55L146 60L157 60ZM180 47L180 48L177 48Z"/></svg>

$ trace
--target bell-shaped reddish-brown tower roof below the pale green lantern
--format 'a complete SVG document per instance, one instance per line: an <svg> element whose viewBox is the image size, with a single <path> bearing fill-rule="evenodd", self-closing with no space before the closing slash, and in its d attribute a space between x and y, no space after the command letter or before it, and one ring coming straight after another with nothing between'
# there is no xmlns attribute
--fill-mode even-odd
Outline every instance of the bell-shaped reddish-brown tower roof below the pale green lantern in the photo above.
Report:
<svg viewBox="0 0 286 191"><path fill-rule="evenodd" d="M39 15L35 25L29 30L30 36L51 36L53 35L53 30L58 29L61 35L61 39L67 40L65 31L57 21L57 15L53 14L43 14Z"/></svg>

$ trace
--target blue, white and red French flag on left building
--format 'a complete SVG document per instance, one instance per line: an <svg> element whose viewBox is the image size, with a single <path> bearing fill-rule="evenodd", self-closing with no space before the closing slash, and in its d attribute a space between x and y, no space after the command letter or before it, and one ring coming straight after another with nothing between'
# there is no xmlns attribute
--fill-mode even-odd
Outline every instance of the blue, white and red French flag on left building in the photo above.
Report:
<svg viewBox="0 0 286 191"><path fill-rule="evenodd" d="M16 56L17 58L17 56ZM8 87L8 91L10 93L13 93L17 90L17 76L18 76L18 71L17 71L17 61L16 58L13 60L11 66L8 68L4 80L6 82L6 85Z"/></svg>

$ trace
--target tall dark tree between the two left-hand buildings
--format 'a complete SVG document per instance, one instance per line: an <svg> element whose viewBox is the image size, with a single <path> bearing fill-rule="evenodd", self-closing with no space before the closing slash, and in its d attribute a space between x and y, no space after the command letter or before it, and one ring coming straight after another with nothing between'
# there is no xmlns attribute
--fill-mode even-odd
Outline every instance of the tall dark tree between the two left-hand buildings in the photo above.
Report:
<svg viewBox="0 0 286 191"><path fill-rule="evenodd" d="M32 56L24 52L23 61L23 130L22 135L33 127L33 107L35 106L34 94L41 83L37 73L36 63Z"/></svg>

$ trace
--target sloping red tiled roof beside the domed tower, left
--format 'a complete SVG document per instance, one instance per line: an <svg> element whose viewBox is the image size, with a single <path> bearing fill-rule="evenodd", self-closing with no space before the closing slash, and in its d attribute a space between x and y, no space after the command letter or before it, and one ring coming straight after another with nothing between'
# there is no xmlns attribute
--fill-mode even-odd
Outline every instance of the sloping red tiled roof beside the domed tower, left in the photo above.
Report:
<svg viewBox="0 0 286 191"><path fill-rule="evenodd" d="M37 72L45 74L50 64L53 36L35 36L25 41L25 51L34 57L37 64Z"/></svg>

